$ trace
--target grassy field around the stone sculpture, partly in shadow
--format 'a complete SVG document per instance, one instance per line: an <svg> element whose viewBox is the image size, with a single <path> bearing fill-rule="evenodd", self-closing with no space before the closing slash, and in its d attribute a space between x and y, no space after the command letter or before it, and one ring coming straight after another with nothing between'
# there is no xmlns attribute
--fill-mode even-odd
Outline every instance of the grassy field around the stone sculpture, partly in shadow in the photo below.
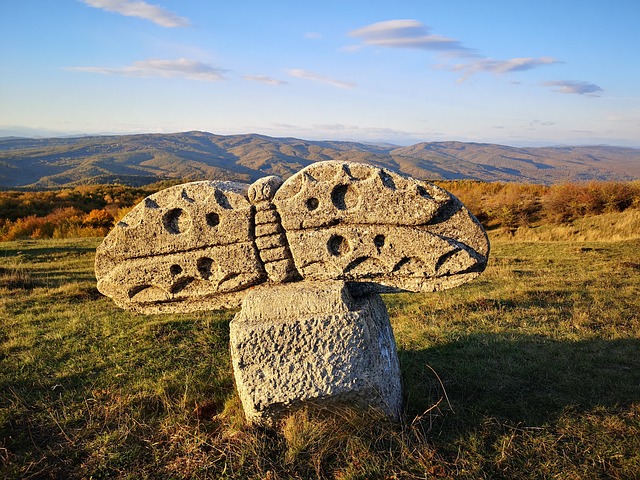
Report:
<svg viewBox="0 0 640 480"><path fill-rule="evenodd" d="M0 243L2 478L640 478L640 240L496 240L487 271L385 296L405 412L244 423L234 312L144 316L98 239Z"/></svg>

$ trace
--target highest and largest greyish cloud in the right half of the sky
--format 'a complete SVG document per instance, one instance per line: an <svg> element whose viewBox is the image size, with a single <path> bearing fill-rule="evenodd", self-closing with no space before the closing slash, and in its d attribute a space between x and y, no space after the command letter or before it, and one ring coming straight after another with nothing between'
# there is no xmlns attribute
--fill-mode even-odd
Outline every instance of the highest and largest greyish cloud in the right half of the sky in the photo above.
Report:
<svg viewBox="0 0 640 480"><path fill-rule="evenodd" d="M349 32L365 45L387 48L413 48L469 55L473 50L458 40L430 33L429 27L417 20L388 20Z"/></svg>

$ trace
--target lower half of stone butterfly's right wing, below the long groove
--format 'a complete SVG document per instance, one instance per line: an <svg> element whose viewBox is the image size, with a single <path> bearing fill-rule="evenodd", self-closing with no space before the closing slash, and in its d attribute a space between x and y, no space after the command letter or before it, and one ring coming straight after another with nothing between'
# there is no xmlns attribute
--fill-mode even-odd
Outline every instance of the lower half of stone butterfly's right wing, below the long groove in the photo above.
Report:
<svg viewBox="0 0 640 480"><path fill-rule="evenodd" d="M418 292L450 288L478 275L475 252L417 228L338 225L287 236L305 279L363 282L374 292Z"/></svg>

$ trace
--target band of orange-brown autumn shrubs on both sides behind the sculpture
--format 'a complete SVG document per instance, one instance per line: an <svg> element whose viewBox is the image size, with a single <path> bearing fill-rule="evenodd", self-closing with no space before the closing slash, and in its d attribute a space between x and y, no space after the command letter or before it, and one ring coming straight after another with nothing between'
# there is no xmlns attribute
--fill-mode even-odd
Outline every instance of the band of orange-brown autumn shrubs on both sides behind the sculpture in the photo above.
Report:
<svg viewBox="0 0 640 480"><path fill-rule="evenodd" d="M0 241L104 236L146 196L176 183L0 191ZM487 229L566 224L585 216L640 209L638 181L551 186L472 180L434 183L457 196Z"/></svg>

